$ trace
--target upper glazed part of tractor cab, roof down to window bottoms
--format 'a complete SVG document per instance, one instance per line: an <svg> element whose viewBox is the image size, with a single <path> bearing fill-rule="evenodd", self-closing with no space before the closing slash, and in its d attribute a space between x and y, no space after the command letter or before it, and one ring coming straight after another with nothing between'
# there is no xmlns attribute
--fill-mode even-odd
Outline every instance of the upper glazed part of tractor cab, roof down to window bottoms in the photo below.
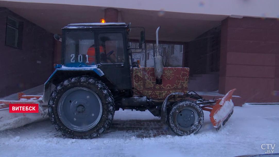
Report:
<svg viewBox="0 0 279 157"><path fill-rule="evenodd" d="M126 23L78 23L62 28L63 63L67 67L125 64Z"/></svg>

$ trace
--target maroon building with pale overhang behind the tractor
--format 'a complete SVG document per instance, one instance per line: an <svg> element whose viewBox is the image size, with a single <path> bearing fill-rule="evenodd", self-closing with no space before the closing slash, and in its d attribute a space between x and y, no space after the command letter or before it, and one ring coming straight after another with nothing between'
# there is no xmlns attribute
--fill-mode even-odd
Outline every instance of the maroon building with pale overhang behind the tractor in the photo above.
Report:
<svg viewBox="0 0 279 157"><path fill-rule="evenodd" d="M145 27L151 45L161 26L162 52L177 58L166 66L190 68L189 90L225 94L236 88L238 105L278 102L277 6L276 0L0 1L0 97L44 83L61 60L61 43L53 34L61 34L62 27L105 18ZM152 47L146 66L153 65ZM144 54L134 54L142 66Z"/></svg>

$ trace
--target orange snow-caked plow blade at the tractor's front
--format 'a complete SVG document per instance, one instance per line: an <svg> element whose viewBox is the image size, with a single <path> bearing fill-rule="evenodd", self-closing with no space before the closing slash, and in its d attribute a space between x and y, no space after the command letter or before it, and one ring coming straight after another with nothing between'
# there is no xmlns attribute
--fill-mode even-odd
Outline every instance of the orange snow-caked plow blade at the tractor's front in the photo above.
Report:
<svg viewBox="0 0 279 157"><path fill-rule="evenodd" d="M234 112L234 103L232 94L236 89L230 90L222 99L219 99L212 107L210 112L210 121L216 130L219 130L229 120Z"/></svg>

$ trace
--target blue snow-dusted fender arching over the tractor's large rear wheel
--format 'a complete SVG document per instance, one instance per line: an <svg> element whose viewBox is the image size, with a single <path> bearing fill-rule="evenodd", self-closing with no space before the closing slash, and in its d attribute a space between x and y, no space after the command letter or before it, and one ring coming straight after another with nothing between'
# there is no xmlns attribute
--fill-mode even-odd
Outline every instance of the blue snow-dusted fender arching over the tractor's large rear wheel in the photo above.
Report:
<svg viewBox="0 0 279 157"><path fill-rule="evenodd" d="M86 66L86 67L66 67L63 65L56 66L57 68L54 72L50 75L49 79L44 84L44 96L43 102L48 103L49 97L51 94L51 84L52 83L59 83L64 79L73 76L80 76L85 73L93 73L93 75L97 75L99 77L104 76L104 73L101 69L97 68L97 66Z"/></svg>

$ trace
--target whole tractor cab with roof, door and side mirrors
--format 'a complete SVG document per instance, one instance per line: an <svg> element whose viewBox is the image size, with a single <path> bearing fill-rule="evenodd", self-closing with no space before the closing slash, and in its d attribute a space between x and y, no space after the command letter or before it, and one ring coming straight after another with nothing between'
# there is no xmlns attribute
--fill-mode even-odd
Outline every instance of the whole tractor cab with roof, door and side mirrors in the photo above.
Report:
<svg viewBox="0 0 279 157"><path fill-rule="evenodd" d="M98 68L112 90L131 92L131 63L126 23L74 23L62 28L62 60L65 68ZM140 32L141 41L144 32ZM139 48L142 49L142 48ZM135 65L136 66L136 65ZM123 83L125 82L125 83Z"/></svg>

